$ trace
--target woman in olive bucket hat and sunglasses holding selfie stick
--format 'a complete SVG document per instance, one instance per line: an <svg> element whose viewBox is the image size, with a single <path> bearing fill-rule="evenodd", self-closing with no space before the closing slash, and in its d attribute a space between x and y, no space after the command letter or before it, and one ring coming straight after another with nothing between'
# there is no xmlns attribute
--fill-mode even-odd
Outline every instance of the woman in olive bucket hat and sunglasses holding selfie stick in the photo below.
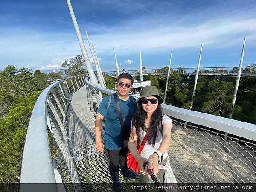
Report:
<svg viewBox="0 0 256 192"><path fill-rule="evenodd" d="M169 164L167 149L171 139L172 120L162 114L157 87L143 87L138 99L138 107L131 122L129 150L140 166L140 183L152 183L148 169L151 169L161 183L177 183ZM149 132L148 132L149 131ZM147 134L147 141L139 154L136 143L142 144ZM145 166L145 162L148 165Z"/></svg>

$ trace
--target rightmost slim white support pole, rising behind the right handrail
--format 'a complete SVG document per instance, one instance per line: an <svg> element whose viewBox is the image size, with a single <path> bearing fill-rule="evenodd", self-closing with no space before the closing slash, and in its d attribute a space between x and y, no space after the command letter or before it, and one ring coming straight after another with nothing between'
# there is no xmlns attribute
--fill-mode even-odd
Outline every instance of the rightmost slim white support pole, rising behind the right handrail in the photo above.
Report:
<svg viewBox="0 0 256 192"><path fill-rule="evenodd" d="M238 86L239 86L239 81L240 81L241 71L242 71L242 66L243 66L243 61L244 61L244 48L245 48L245 38L244 38L244 44L243 44L239 69L238 69L237 76L236 76L236 84L235 84L234 91L233 91L232 108L230 110L230 114L229 114L229 117L228 117L229 119L232 119L233 108L234 108L235 103L236 103L236 94L237 94L237 90L238 90ZM225 133L224 140L227 141L227 133Z"/></svg>

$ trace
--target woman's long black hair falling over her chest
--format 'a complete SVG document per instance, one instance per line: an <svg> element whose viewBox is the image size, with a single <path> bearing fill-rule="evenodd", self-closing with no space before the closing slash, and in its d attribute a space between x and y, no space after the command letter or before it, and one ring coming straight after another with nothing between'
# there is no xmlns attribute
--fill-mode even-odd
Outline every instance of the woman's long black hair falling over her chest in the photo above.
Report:
<svg viewBox="0 0 256 192"><path fill-rule="evenodd" d="M156 96L158 98L158 96ZM145 119L147 117L147 112L144 111L142 108L141 100L139 99L137 110L132 118L132 126L136 129L136 136L137 136L137 142L142 143L140 141L140 128L144 128ZM161 101L158 98L158 105L156 110L151 116L151 122L148 126L148 143L151 145L155 145L156 138L157 138L157 131L159 129L159 125L162 123L162 107L161 107ZM161 125L162 126L162 125Z"/></svg>

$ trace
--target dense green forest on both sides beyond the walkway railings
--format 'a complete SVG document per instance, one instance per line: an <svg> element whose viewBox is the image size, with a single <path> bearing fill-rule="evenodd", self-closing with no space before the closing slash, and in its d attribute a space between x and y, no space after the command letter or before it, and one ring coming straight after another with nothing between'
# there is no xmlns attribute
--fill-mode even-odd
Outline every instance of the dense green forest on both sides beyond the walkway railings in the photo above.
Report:
<svg viewBox="0 0 256 192"><path fill-rule="evenodd" d="M76 55L61 66L61 73L75 76L86 73L81 55ZM247 66L256 73L256 64ZM246 68L244 70L246 70ZM166 68L166 67L164 67ZM164 69L163 68L163 69ZM144 70L145 67L143 68ZM234 67L233 70L237 70ZM40 93L50 84L49 76L36 70L8 65L0 72L0 183L2 191L16 190L10 183L20 183L23 147L29 119ZM139 79L139 76L135 76ZM166 76L149 73L143 79L151 80L163 96ZM182 76L174 71L169 77L166 104L189 109L195 76ZM106 87L114 90L111 76L105 77ZM228 117L232 108L236 76L199 76L192 110ZM232 119L256 124L256 76L241 76ZM11 185L11 184L10 184ZM1 186L3 187L3 186ZM0 190L1 191L1 190Z"/></svg>

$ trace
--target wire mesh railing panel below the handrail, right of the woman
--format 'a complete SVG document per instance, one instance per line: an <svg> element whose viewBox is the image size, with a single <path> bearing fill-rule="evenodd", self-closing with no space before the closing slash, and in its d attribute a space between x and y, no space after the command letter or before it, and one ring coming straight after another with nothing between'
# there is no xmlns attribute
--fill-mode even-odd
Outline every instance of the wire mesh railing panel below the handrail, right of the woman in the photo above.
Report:
<svg viewBox="0 0 256 192"><path fill-rule="evenodd" d="M178 183L255 183L256 143L173 121L169 147Z"/></svg>

